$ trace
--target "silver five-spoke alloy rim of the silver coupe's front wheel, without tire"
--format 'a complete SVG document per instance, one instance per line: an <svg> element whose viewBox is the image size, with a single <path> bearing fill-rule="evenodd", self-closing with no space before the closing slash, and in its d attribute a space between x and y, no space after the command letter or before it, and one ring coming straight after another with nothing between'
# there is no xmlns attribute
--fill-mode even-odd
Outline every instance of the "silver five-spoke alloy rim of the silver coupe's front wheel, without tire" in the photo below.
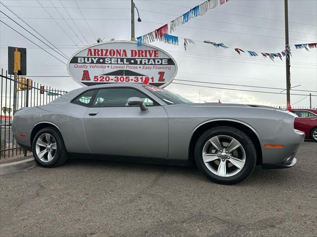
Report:
<svg viewBox="0 0 317 237"><path fill-rule="evenodd" d="M242 170L246 162L246 153L237 139L218 135L206 142L203 148L203 160L212 173L221 177L230 177Z"/></svg>

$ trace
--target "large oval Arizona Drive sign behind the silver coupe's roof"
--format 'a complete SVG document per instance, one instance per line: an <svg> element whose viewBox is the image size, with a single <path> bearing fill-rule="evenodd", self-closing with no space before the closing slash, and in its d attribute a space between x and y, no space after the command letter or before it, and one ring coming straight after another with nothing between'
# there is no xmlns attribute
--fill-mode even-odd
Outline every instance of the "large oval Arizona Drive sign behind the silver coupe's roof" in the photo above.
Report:
<svg viewBox="0 0 317 237"><path fill-rule="evenodd" d="M67 63L72 79L82 85L149 83L165 87L175 78L172 56L155 46L134 41L108 41L80 49Z"/></svg>

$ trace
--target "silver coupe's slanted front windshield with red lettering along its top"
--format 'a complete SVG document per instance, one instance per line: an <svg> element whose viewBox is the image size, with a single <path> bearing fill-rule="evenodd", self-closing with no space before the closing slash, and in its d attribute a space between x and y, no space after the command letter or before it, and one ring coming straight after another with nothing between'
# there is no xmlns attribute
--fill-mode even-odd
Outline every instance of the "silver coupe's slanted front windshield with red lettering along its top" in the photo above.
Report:
<svg viewBox="0 0 317 237"><path fill-rule="evenodd" d="M167 105L193 103L192 101L157 86L145 86Z"/></svg>

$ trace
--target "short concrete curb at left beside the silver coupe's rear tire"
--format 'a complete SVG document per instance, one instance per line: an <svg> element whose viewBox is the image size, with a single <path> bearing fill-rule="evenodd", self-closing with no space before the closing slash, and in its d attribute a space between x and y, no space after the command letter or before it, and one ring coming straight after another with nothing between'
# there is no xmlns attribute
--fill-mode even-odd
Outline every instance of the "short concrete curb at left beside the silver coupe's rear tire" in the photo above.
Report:
<svg viewBox="0 0 317 237"><path fill-rule="evenodd" d="M37 163L33 157L16 162L0 164L0 175L20 172L25 169L31 169L35 166L37 166Z"/></svg>

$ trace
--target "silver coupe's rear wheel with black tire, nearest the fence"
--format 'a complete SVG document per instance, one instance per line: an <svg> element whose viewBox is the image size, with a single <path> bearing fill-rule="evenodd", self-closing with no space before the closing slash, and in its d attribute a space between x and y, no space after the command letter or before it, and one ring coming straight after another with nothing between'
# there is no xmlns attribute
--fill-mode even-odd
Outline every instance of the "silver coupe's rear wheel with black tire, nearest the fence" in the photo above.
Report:
<svg viewBox="0 0 317 237"><path fill-rule="evenodd" d="M32 151L36 162L47 168L62 165L68 158L63 138L53 127L43 128L35 135Z"/></svg>

